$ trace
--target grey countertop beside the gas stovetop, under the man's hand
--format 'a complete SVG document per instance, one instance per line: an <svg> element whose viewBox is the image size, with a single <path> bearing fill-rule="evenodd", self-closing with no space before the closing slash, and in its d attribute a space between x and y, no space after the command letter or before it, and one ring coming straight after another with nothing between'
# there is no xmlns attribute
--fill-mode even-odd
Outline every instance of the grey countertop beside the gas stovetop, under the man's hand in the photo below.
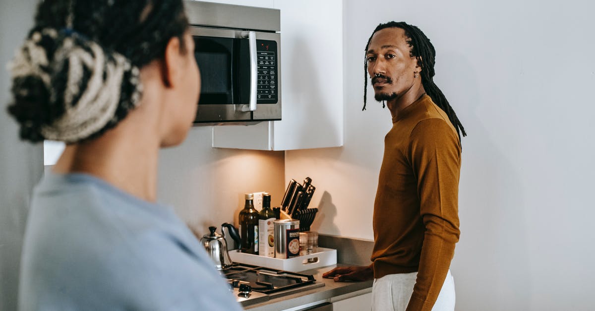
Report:
<svg viewBox="0 0 595 311"><path fill-rule="evenodd" d="M287 296L273 297L268 301L244 306L244 308L252 311L285 310L319 301L322 303L324 301L333 302L343 300L372 291L372 280L364 282L335 282L333 279L322 278L322 273L338 266L349 265L337 264L300 272L314 275L316 282L324 283L324 287L312 288L311 290L305 290Z"/></svg>

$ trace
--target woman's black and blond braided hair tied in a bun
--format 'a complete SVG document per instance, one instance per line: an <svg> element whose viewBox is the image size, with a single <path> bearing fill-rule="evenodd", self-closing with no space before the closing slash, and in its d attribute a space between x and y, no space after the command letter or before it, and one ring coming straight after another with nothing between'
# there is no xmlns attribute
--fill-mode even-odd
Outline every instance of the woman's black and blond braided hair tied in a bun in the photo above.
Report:
<svg viewBox="0 0 595 311"><path fill-rule="evenodd" d="M44 0L10 64L20 137L67 144L101 136L142 96L139 69L188 27L182 0Z"/></svg>

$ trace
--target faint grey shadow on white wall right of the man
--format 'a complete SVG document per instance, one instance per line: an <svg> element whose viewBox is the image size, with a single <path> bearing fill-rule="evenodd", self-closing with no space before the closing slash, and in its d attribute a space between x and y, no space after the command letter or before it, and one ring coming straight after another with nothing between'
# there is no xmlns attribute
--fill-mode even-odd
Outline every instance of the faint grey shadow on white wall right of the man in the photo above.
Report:
<svg viewBox="0 0 595 311"><path fill-rule="evenodd" d="M508 150L499 150L491 139L491 132L498 129L483 125L478 108L494 103L480 98L478 76L465 55L443 52L441 58L448 61L440 64L437 76L453 79L437 85L469 135L462 139L461 241L452 263L457 309L529 310L530 267L518 165L507 158Z"/></svg>

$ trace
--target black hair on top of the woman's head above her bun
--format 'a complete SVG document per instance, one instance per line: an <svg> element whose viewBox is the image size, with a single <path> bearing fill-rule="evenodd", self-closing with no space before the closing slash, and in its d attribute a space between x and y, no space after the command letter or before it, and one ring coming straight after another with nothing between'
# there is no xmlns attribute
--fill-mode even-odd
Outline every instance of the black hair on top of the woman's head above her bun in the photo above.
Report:
<svg viewBox="0 0 595 311"><path fill-rule="evenodd" d="M65 27L68 3L42 1L35 29ZM74 11L73 29L77 33L126 56L138 67L161 58L172 37L179 38L183 45L183 33L188 27L181 0L74 0Z"/></svg>

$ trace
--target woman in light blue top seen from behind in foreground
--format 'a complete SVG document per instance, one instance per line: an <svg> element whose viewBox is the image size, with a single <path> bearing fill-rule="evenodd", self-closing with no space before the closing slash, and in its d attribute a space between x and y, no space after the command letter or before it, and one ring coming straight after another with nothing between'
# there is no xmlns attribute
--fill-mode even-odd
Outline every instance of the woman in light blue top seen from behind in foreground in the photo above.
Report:
<svg viewBox="0 0 595 311"><path fill-rule="evenodd" d="M27 221L21 310L240 310L192 232L156 202L200 77L181 0L45 0L11 63L21 138L67 144Z"/></svg>

